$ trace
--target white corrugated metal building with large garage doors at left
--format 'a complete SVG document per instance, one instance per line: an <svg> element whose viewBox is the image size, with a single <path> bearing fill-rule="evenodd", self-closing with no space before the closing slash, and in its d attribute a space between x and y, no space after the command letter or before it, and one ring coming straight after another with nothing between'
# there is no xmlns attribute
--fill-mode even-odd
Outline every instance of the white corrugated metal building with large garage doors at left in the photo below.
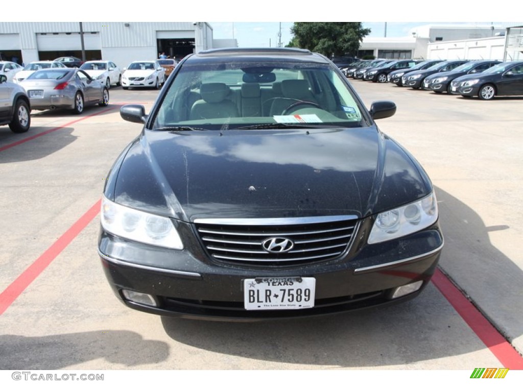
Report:
<svg viewBox="0 0 523 392"><path fill-rule="evenodd" d="M110 60L120 67L157 59L165 52L181 59L211 48L236 47L214 40L207 22L0 22L3 60L29 63L62 56Z"/></svg>

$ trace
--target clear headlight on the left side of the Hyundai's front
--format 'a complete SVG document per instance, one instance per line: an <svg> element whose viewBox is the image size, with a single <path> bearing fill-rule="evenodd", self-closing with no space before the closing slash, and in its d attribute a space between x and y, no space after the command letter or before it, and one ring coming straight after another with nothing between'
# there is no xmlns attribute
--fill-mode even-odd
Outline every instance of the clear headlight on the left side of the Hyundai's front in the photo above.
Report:
<svg viewBox="0 0 523 392"><path fill-rule="evenodd" d="M184 248L173 222L165 216L134 210L105 197L100 215L102 227L111 234L164 248Z"/></svg>

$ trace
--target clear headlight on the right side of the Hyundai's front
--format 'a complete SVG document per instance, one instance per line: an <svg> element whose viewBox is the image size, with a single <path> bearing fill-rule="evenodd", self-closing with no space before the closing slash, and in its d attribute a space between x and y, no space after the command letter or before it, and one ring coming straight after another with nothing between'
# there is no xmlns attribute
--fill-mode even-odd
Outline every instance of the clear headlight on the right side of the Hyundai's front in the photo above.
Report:
<svg viewBox="0 0 523 392"><path fill-rule="evenodd" d="M436 195L385 211L376 217L369 236L369 244L377 244L418 232L438 220Z"/></svg>

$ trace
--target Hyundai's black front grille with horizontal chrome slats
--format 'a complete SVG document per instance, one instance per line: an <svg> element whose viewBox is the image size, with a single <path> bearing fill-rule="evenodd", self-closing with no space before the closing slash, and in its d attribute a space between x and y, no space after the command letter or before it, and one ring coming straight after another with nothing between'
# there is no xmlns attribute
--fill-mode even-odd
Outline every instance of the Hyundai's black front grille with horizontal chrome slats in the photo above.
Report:
<svg viewBox="0 0 523 392"><path fill-rule="evenodd" d="M291 218L283 220L196 221L197 233L208 255L216 261L251 266L294 266L341 256L350 244L355 216ZM276 238L273 252L268 247ZM289 244L288 251L277 243ZM287 246L288 248L289 246Z"/></svg>

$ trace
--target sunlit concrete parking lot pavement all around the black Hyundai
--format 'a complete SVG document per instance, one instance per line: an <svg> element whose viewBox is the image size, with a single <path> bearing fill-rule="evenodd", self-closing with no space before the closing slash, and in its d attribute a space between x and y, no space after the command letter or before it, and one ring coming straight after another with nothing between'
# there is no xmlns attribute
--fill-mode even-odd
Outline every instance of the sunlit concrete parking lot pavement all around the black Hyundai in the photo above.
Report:
<svg viewBox="0 0 523 392"><path fill-rule="evenodd" d="M396 101L396 115L378 124L434 181L446 239L442 270L523 352L522 260L515 248L522 182L511 166L522 167L517 146L523 144L514 131L521 119L513 112L521 102L478 105L389 85L354 85L368 107L374 100ZM150 108L157 94L128 92L111 89L117 104L107 111L34 113L21 137L0 129L1 369L507 367L435 284L390 308L254 324L161 318L123 306L96 253L97 203L110 166L141 129L119 117L119 105Z"/></svg>

